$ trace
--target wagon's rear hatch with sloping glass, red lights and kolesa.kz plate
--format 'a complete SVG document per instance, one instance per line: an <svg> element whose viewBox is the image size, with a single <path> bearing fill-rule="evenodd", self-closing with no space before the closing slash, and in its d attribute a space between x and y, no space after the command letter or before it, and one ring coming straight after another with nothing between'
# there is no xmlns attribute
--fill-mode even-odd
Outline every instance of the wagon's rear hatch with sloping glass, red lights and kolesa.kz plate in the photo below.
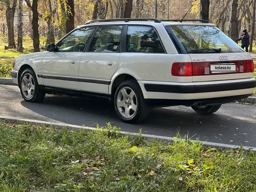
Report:
<svg viewBox="0 0 256 192"><path fill-rule="evenodd" d="M192 81L218 81L253 77L250 54L212 24L178 23L166 26L180 54L191 62L173 63L173 76L192 76Z"/></svg>

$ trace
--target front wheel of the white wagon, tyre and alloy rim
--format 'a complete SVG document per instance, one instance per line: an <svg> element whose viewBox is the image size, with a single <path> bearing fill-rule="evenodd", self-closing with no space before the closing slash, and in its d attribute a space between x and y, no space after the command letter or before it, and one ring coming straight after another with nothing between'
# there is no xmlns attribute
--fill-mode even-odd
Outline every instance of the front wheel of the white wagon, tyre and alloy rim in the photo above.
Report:
<svg viewBox="0 0 256 192"><path fill-rule="evenodd" d="M32 69L25 69L20 76L19 88L22 97L27 102L41 102L45 97L44 91L37 82Z"/></svg>

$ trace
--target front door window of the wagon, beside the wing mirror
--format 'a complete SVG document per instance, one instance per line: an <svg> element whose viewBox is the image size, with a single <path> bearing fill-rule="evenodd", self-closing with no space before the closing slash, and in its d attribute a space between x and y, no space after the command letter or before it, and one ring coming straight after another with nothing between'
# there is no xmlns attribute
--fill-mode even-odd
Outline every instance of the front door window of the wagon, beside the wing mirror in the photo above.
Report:
<svg viewBox="0 0 256 192"><path fill-rule="evenodd" d="M93 33L95 27L86 27L77 29L67 35L61 42L59 42L57 52L83 52L90 35Z"/></svg>

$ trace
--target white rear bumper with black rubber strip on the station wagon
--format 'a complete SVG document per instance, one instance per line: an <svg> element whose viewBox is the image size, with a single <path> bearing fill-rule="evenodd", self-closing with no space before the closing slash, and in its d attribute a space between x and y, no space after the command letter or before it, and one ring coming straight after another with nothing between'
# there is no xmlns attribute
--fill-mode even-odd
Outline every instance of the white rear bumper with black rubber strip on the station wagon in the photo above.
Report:
<svg viewBox="0 0 256 192"><path fill-rule="evenodd" d="M191 105L195 102L209 104L232 102L247 98L256 87L254 78L176 83L163 81L138 81L147 100L162 100L168 105ZM160 104L162 103L160 102Z"/></svg>

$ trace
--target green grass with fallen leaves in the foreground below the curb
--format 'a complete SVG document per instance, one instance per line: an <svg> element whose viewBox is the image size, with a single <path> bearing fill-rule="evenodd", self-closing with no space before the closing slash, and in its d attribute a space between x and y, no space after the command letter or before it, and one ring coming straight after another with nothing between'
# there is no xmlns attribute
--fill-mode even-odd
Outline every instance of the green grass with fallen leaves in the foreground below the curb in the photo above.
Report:
<svg viewBox="0 0 256 192"><path fill-rule="evenodd" d="M251 151L0 123L0 191L256 191Z"/></svg>

